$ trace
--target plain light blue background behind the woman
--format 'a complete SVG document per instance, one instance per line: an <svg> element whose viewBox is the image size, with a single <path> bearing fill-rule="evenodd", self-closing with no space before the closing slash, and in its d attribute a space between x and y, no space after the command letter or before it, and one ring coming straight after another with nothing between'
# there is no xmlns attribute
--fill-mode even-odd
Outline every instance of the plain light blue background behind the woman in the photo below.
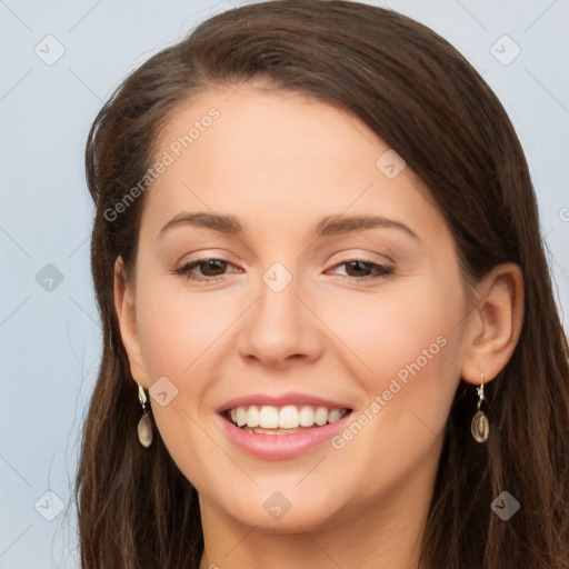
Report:
<svg viewBox="0 0 569 569"><path fill-rule="evenodd" d="M99 365L83 176L89 126L127 72L240 3L0 0L0 569L79 567L73 505L67 517L44 517L59 511L48 490L66 505L72 496L79 428ZM373 3L446 37L503 102L527 152L567 313L569 2ZM66 50L52 66L34 52L48 34ZM508 66L490 52L503 34L521 49ZM47 263L64 277L51 292L36 281Z"/></svg>

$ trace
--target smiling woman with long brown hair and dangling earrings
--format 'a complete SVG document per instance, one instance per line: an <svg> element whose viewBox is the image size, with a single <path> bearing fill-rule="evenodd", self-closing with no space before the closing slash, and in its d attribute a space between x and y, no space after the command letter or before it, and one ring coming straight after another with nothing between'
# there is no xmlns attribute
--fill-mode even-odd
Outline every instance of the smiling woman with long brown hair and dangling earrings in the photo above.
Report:
<svg viewBox="0 0 569 569"><path fill-rule="evenodd" d="M569 567L568 351L528 168L443 39L211 18L87 148L84 568Z"/></svg>

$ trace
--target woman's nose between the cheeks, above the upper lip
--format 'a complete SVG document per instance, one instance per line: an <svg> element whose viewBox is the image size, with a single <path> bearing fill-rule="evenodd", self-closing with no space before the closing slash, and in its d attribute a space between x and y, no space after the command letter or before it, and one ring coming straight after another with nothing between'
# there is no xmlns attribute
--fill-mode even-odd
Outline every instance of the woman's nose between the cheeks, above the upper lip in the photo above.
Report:
<svg viewBox="0 0 569 569"><path fill-rule="evenodd" d="M241 357L273 368L320 358L323 336L318 319L307 308L307 299L299 297L301 290L295 278L280 291L261 281L258 299L241 322Z"/></svg>

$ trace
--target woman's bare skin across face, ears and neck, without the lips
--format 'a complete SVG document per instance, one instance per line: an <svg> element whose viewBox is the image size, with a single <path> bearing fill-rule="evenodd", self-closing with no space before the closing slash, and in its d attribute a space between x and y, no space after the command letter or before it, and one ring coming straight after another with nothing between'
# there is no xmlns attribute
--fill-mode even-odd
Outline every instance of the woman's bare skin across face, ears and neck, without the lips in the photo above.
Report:
<svg viewBox="0 0 569 569"><path fill-rule="evenodd" d="M482 371L491 381L511 356L520 271L497 267L468 301L428 190L409 168L392 179L378 168L389 147L369 128L298 93L230 92L203 93L166 126L157 156L174 160L148 190L136 274L116 267L133 378L178 390L151 403L199 493L200 569L416 569L453 393ZM212 107L219 118L174 156ZM162 230L198 212L232 216L242 232ZM316 234L325 218L363 216L383 221ZM191 264L200 259L221 262ZM277 262L286 271L272 274L291 277L279 292L263 280ZM368 421L284 460L251 456L220 429L226 401L289 392L343 401ZM279 519L263 507L276 491L290 505Z"/></svg>

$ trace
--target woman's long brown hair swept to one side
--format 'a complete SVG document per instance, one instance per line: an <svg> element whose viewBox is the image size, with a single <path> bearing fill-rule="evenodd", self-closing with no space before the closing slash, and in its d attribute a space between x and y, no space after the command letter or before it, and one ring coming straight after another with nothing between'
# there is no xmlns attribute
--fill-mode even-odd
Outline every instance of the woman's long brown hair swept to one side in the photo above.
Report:
<svg viewBox="0 0 569 569"><path fill-rule="evenodd" d="M487 386L492 430L470 436L473 389L461 382L448 419L422 559L436 569L569 568L569 370L522 149L496 96L446 40L397 12L347 1L244 6L200 24L117 89L87 143L97 206L92 273L103 353L77 480L83 569L197 568L198 497L141 415L113 310L113 263L132 268L147 192L124 200L152 163L160 129L211 86L250 79L339 106L363 120L430 189L466 277L521 267L525 323ZM148 191L151 191L149 189ZM114 211L112 216L109 212ZM490 509L503 490L521 509Z"/></svg>

